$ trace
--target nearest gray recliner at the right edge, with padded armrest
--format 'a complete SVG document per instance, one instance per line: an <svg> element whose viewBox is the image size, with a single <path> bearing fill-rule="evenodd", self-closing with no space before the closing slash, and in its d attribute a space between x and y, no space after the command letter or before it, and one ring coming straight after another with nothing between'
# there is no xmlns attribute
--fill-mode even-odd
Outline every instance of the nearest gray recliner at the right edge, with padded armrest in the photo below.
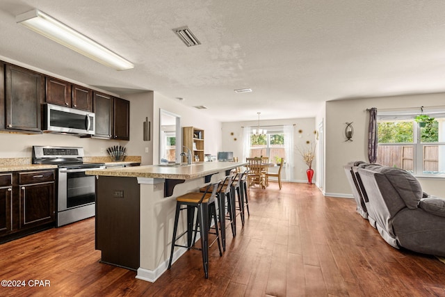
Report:
<svg viewBox="0 0 445 297"><path fill-rule="evenodd" d="M401 168L353 165L357 192L380 236L394 248L444 257L445 199L423 193L419 181Z"/></svg>

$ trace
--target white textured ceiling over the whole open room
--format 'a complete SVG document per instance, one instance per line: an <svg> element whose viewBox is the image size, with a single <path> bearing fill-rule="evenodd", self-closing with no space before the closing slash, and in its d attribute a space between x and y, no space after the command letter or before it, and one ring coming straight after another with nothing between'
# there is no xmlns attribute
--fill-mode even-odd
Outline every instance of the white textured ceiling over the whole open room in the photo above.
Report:
<svg viewBox="0 0 445 297"><path fill-rule="evenodd" d="M134 69L16 24L35 8ZM202 45L186 47L172 32L180 26ZM445 1L0 0L0 56L123 97L183 97L221 121L305 118L327 100L444 91Z"/></svg>

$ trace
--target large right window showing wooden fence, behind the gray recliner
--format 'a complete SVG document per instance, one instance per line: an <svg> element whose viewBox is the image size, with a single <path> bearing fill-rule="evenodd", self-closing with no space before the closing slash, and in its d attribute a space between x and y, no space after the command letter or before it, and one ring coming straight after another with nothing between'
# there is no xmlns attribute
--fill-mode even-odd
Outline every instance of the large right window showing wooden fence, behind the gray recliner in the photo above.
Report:
<svg viewBox="0 0 445 297"><path fill-rule="evenodd" d="M423 114L434 119L416 122L418 109L378 111L377 163L415 175L445 175L445 107Z"/></svg>

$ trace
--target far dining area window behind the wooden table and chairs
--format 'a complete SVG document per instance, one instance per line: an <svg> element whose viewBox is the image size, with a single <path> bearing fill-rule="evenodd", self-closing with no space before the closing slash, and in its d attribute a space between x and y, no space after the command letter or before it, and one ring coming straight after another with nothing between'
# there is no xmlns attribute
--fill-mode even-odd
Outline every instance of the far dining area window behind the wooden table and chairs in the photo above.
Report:
<svg viewBox="0 0 445 297"><path fill-rule="evenodd" d="M270 163L286 160L283 131L268 131L267 134L250 135L250 156L266 156Z"/></svg>

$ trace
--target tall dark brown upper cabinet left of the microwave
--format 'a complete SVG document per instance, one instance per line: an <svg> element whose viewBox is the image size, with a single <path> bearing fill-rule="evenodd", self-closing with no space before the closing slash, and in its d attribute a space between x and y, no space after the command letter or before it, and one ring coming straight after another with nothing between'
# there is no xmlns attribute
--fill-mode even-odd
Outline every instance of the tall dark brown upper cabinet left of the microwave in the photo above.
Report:
<svg viewBox="0 0 445 297"><path fill-rule="evenodd" d="M5 124L1 128L40 132L40 104L43 99L44 77L42 74L6 64Z"/></svg>

